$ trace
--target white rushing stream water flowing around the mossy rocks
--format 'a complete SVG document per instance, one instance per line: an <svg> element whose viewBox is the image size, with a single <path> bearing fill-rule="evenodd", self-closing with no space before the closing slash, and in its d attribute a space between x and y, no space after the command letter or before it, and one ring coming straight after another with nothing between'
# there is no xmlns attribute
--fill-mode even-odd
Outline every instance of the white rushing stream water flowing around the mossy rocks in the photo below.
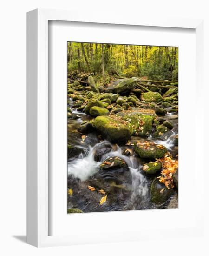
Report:
<svg viewBox="0 0 209 256"><path fill-rule="evenodd" d="M81 134L77 132L77 128L81 121L89 120L91 117L82 112L78 112L73 108L71 108L71 110L73 115L78 115L78 119L70 120L68 122L68 140L70 140L72 145L80 149L81 153L76 157L68 159L68 188L72 188L74 191L74 194L68 197L68 208L78 207L84 212L157 209L157 207L150 202L149 188L152 178L144 175L141 171L142 163L140 162L140 159L134 155L123 155L123 150L124 148L127 148L127 146L119 147L118 145L112 145L109 141L98 141L98 136L93 133L86 135L87 141L83 141ZM174 120L172 123L174 129L165 141L154 139L151 136L146 140L161 144L172 152L175 148L175 135L178 133L177 121ZM133 139L136 140L137 138L134 137ZM139 139L145 140L142 138ZM95 152L97 148L100 148L104 144L110 145L112 149L110 152L102 155L100 161L97 162L94 160ZM96 184L96 186L99 187L101 178L99 177L100 164L106 159L116 156L127 163L129 172L124 172L124 174L122 174L123 183L120 185L116 184L117 182L112 182L110 177L108 178L111 182L105 177L106 180L104 180L103 187L106 186L107 190L109 189L108 197L112 198L112 202L98 207L101 195L99 193L92 193L87 189L88 185L95 186ZM114 197L115 195L117 198ZM166 208L166 205L164 208Z"/></svg>

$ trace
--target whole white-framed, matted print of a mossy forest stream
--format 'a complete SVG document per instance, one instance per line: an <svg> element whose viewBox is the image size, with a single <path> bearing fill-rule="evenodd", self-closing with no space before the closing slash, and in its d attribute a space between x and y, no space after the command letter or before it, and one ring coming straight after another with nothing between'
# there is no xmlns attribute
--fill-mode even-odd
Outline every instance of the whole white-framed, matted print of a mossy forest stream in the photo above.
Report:
<svg viewBox="0 0 209 256"><path fill-rule="evenodd" d="M202 234L202 20L84 17L27 14L27 242Z"/></svg>

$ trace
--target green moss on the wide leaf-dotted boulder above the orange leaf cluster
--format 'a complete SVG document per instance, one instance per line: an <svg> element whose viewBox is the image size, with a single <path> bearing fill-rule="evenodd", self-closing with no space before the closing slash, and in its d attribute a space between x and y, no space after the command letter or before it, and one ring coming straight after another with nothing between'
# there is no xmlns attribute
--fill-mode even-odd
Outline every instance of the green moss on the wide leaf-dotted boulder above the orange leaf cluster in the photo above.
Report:
<svg viewBox="0 0 209 256"><path fill-rule="evenodd" d="M144 148L142 146L137 146L135 143L134 150L141 158L155 159L162 158L165 153L167 153L167 148L157 148L156 145L152 145L148 148Z"/></svg>

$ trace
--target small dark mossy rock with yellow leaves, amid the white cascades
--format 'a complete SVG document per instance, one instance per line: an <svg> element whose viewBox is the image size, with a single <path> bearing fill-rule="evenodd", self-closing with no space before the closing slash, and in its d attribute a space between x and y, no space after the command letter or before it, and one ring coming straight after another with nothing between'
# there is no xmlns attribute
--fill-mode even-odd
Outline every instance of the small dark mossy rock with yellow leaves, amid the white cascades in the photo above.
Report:
<svg viewBox="0 0 209 256"><path fill-rule="evenodd" d="M127 169L128 165L127 163L119 157L110 157L108 159L106 159L101 165L100 165L100 169L103 171L110 171L110 170L116 170L116 169L120 169L120 168L124 168Z"/></svg>

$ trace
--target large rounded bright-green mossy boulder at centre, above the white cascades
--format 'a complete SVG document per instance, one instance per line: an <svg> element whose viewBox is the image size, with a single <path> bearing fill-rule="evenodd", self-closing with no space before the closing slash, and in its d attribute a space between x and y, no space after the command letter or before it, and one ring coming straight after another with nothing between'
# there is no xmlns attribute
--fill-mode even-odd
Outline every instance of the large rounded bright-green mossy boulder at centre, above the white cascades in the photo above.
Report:
<svg viewBox="0 0 209 256"><path fill-rule="evenodd" d="M133 128L127 121L119 121L110 116L98 116L94 126L104 138L118 145L123 145L130 140Z"/></svg>

